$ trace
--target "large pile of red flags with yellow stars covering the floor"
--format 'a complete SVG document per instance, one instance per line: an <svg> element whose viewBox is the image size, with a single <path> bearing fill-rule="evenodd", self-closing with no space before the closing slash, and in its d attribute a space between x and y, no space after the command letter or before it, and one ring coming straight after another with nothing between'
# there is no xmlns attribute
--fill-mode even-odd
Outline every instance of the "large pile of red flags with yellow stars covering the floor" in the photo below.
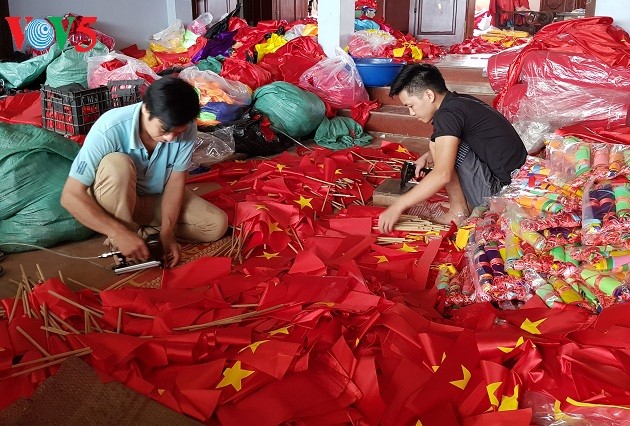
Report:
<svg viewBox="0 0 630 426"><path fill-rule="evenodd" d="M164 270L161 289L25 280L2 301L0 408L75 355L208 424L628 421L625 305L445 318L432 280L461 262L453 230L377 244L371 184L413 157L385 144L221 164L198 180L224 184L207 198L229 212L231 257Z"/></svg>

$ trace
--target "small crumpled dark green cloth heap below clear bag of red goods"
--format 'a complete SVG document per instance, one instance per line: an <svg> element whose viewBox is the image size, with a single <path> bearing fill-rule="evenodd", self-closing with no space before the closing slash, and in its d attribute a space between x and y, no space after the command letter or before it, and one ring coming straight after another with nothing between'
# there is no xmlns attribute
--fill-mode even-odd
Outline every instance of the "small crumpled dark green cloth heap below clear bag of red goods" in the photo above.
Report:
<svg viewBox="0 0 630 426"><path fill-rule="evenodd" d="M324 118L315 132L315 143L335 150L366 146L371 140L372 136L363 133L361 125L349 117Z"/></svg>

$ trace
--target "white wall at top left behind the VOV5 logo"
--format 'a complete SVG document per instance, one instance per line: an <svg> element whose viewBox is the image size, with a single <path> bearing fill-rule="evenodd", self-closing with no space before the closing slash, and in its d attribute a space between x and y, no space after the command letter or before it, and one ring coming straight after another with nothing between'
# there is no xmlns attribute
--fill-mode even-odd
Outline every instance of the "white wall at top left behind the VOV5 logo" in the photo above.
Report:
<svg viewBox="0 0 630 426"><path fill-rule="evenodd" d="M94 28L116 39L116 50L131 44L148 47L147 39L169 21L192 19L190 0L9 0L11 16L63 16L72 12L96 16Z"/></svg>

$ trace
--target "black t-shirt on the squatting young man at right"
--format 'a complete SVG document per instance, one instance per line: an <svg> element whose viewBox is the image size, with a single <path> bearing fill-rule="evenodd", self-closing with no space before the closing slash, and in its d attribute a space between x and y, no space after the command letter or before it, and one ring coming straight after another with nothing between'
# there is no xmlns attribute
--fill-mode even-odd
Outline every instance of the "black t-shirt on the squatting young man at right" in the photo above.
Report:
<svg viewBox="0 0 630 426"><path fill-rule="evenodd" d="M502 185L510 173L525 163L527 150L512 124L497 110L477 98L450 92L433 116L431 140L455 136L468 144L488 165Z"/></svg>

